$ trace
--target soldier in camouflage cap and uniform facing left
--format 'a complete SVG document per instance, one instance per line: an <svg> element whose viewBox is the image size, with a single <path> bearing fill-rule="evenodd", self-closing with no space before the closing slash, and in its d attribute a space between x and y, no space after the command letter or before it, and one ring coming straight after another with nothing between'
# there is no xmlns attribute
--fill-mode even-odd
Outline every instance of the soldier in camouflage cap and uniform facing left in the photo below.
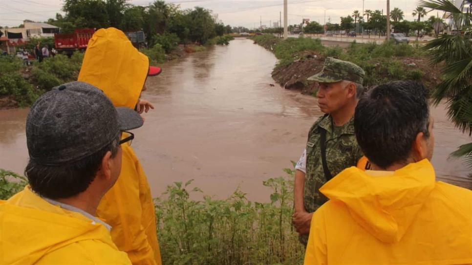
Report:
<svg viewBox="0 0 472 265"><path fill-rule="evenodd" d="M359 66L326 58L317 81L318 106L325 113L308 132L306 149L296 166L293 224L306 246L313 212L327 201L320 188L363 156L354 134L354 111L365 73Z"/></svg>

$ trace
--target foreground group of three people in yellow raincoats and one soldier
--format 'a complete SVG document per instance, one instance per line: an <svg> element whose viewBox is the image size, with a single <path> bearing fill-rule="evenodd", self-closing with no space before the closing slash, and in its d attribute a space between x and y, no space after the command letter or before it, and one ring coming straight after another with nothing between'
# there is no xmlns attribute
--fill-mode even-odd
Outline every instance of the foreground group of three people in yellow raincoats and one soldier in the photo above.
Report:
<svg viewBox="0 0 472 265"><path fill-rule="evenodd" d="M0 264L161 264L148 180L130 146L153 108L141 99L146 79L160 72L123 32L100 29L78 81L35 102L29 185L0 201ZM296 166L304 264L472 264L472 191L435 180L427 89L396 81L364 92L364 78L335 58L309 78L325 115Z"/></svg>

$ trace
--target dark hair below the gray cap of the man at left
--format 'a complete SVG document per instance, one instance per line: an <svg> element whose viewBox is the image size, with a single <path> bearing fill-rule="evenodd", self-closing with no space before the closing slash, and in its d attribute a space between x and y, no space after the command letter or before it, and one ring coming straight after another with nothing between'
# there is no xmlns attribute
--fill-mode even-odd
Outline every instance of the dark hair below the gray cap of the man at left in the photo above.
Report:
<svg viewBox="0 0 472 265"><path fill-rule="evenodd" d="M28 162L24 174L31 189L49 199L69 198L85 191L95 179L102 159L111 151L111 157L118 153L119 138L79 161L59 166L45 166L33 160Z"/></svg>

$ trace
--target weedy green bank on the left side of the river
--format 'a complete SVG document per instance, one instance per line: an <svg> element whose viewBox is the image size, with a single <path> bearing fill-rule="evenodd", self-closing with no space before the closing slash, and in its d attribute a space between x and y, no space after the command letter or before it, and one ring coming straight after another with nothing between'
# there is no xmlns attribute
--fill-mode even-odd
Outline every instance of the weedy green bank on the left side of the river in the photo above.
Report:
<svg viewBox="0 0 472 265"><path fill-rule="evenodd" d="M233 37L229 35L215 37L208 44L179 44L168 54L160 45L143 49L152 64L160 65L185 57L188 54L202 52L213 45L228 45ZM0 110L24 108L51 88L77 80L82 66L84 53L75 52L72 56L56 55L45 58L43 62L34 61L26 64L14 56L0 56Z"/></svg>

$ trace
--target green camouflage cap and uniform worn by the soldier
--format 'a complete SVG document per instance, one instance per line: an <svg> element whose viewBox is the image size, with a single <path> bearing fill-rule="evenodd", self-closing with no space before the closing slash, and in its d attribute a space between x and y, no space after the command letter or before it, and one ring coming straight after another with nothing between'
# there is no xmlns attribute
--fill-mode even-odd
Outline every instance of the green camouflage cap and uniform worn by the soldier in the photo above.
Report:
<svg viewBox="0 0 472 265"><path fill-rule="evenodd" d="M322 72L308 80L333 83L348 80L363 83L364 71L357 65L333 58L326 58ZM326 164L334 177L351 166L356 166L363 153L354 134L354 117L343 126L334 126L331 115L320 117L308 132L306 144L306 173L303 203L307 212L314 212L328 199L320 192L326 183L324 175L320 137L326 130ZM300 235L300 242L306 246L308 235Z"/></svg>

